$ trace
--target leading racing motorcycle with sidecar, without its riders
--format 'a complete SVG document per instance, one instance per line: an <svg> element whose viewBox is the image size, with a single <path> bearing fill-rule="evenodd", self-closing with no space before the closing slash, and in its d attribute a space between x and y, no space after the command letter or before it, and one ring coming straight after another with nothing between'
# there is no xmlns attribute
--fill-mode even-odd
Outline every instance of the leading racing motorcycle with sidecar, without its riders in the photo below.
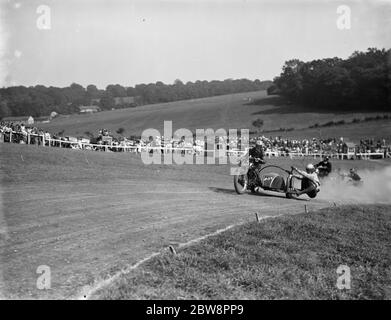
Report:
<svg viewBox="0 0 391 320"><path fill-rule="evenodd" d="M243 160L242 160L243 161ZM240 162L239 165L242 166L244 162ZM247 165L247 170L241 174L234 175L234 187L235 191L238 194L246 193L251 191L255 193L257 188L263 189L265 191L274 191L285 193L285 196L288 199L294 197L295 188L293 186L293 167L291 170L286 170L277 165L267 165L261 168L258 168L254 165L254 160L249 159L249 164ZM267 168L276 168L280 171L283 171L287 174L287 177L284 178L282 174L269 172L263 173ZM313 194L308 194L309 197L313 198ZM316 194L315 194L316 196Z"/></svg>

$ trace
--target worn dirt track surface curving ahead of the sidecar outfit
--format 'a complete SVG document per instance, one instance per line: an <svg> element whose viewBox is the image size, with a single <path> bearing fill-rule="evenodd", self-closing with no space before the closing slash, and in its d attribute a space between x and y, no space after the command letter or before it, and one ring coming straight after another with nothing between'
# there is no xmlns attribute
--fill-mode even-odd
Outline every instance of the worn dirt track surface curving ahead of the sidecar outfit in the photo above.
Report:
<svg viewBox="0 0 391 320"><path fill-rule="evenodd" d="M75 297L84 285L170 244L255 220L255 211L293 214L304 204L330 205L236 195L223 165L145 166L130 154L0 148L0 222L7 230L0 289L7 298ZM51 268L50 290L36 288L40 265Z"/></svg>

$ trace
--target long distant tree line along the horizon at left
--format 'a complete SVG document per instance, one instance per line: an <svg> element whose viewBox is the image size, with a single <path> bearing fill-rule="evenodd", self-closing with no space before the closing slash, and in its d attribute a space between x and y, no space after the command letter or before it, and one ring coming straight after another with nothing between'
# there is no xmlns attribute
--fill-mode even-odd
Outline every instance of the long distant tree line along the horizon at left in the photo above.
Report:
<svg viewBox="0 0 391 320"><path fill-rule="evenodd" d="M65 88L43 85L15 86L0 89L0 118L27 115L40 117L49 115L52 111L71 114L78 112L79 106L91 104L99 106L101 110L135 106L129 102L116 104L115 97L135 97L137 105L143 105L266 90L271 84L272 81L258 79L196 81L184 84L177 79L173 84L159 81L134 87L110 84L104 90L93 84L84 88L77 83Z"/></svg>

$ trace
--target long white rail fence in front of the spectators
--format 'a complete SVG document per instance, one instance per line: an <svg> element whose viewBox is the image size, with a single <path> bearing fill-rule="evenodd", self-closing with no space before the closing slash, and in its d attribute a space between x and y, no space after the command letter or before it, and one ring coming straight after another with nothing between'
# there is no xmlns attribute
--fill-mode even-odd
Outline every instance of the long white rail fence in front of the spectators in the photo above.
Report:
<svg viewBox="0 0 391 320"><path fill-rule="evenodd" d="M12 141L12 135L22 135L22 133L18 133L15 131L7 132L10 137L9 140ZM61 139L45 139L45 135L38 135L38 134L27 134L27 144L31 144L31 137L38 137L37 144L42 145L45 147L71 147L73 149L82 149L82 150L95 150L95 151L122 151L122 152L150 152L151 150L160 150L162 153L173 153L173 152L187 152L187 153L193 153L193 154L201 154L201 153L213 153L213 156L227 156L227 155L243 155L246 153L246 151L242 150L226 150L225 152L221 149L202 149L197 150L193 147L172 147L170 145L166 146L157 146L157 147L151 147L151 146L141 146L141 145L133 145L133 146L124 146L124 145L108 145L108 144L93 144L93 143L86 143L82 141L67 141L67 140L61 140ZM0 133L0 143L4 142L4 133ZM289 157L291 159L293 158L303 158L303 157L311 157L311 158L322 158L325 155L328 155L331 158L335 159L371 159L373 157L376 158L391 158L390 153L383 153L383 152L359 152L359 153L302 153L302 152L282 152L282 151L266 151L265 155L268 158L272 157Z"/></svg>

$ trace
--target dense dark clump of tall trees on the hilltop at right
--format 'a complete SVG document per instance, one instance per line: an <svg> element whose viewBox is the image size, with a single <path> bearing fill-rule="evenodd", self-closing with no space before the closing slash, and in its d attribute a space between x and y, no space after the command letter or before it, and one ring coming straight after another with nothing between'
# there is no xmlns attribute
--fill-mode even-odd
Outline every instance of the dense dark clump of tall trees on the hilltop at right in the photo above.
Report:
<svg viewBox="0 0 391 320"><path fill-rule="evenodd" d="M268 93L313 111L390 110L391 50L369 48L349 58L286 61Z"/></svg>

